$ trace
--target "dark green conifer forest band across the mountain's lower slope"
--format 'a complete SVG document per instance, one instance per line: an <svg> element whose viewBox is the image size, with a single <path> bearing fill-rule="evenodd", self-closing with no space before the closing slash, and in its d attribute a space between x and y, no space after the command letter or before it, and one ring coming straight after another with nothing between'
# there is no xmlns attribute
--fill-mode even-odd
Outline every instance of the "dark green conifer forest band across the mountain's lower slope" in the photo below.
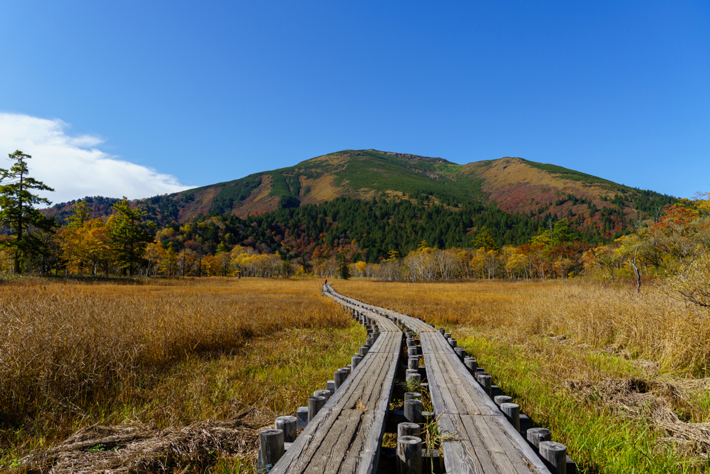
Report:
<svg viewBox="0 0 710 474"><path fill-rule="evenodd" d="M261 253L318 259L337 248L352 249L353 258L378 262L388 252L407 254L425 240L432 247L472 247L484 228L500 244L523 244L542 223L489 205L458 210L420 200L337 198L321 205L276 210L242 219L234 215L200 217L192 224L168 226L158 239L164 246L200 240L208 252L220 243L254 247Z"/></svg>

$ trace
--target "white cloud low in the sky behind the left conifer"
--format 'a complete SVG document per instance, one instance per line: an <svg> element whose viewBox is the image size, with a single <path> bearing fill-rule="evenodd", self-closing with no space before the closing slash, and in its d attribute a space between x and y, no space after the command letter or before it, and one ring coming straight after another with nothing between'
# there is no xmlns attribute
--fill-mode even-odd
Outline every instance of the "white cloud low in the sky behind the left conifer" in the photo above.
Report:
<svg viewBox="0 0 710 474"><path fill-rule="evenodd" d="M97 149L104 142L97 136L69 136L66 127L60 119L0 112L0 168L11 166L2 159L7 153L21 150L32 155L30 176L55 189L43 193L53 203L94 195L148 198L192 188L180 184L175 176Z"/></svg>

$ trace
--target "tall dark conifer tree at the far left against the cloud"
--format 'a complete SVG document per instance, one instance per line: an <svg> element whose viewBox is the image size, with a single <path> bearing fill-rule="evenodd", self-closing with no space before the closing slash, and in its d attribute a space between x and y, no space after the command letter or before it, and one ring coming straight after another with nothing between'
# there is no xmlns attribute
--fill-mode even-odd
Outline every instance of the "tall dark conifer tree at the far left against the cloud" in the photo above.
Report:
<svg viewBox="0 0 710 474"><path fill-rule="evenodd" d="M0 227L9 227L13 234L0 241L0 248L13 253L13 266L16 274L22 271L25 257L39 254L45 244L31 230L52 232L57 227L55 220L45 217L35 205L50 205L47 198L40 198L33 191L53 191L42 181L30 178L27 160L32 156L16 150L9 153L9 159L15 163L9 170L0 168Z"/></svg>

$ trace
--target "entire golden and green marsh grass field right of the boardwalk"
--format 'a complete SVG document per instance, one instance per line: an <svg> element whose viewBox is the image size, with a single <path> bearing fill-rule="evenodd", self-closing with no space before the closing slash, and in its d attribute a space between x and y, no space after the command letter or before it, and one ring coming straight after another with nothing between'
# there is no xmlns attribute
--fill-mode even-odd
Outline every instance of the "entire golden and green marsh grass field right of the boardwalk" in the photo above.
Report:
<svg viewBox="0 0 710 474"><path fill-rule="evenodd" d="M637 294L585 281L334 288L455 333L493 383L567 445L582 472L710 468L706 311L650 286ZM609 392L628 381L650 388Z"/></svg>

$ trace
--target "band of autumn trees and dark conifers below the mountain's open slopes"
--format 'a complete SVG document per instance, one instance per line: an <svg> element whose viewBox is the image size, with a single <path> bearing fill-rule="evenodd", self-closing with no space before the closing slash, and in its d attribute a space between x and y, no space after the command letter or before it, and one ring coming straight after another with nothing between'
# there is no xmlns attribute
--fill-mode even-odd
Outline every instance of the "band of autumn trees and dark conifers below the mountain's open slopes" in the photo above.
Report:
<svg viewBox="0 0 710 474"><path fill-rule="evenodd" d="M432 196L337 198L242 219L197 217L162 229L126 198L107 217L75 202L65 219L48 185L28 176L21 151L0 169L0 271L144 276L354 276L400 281L660 276L687 301L708 304L710 199L678 200L603 237L603 220L532 219L479 203L457 208ZM568 197L569 198L569 197ZM106 203L104 203L106 204ZM614 210L609 210L611 213ZM589 239L590 235L601 236Z"/></svg>

